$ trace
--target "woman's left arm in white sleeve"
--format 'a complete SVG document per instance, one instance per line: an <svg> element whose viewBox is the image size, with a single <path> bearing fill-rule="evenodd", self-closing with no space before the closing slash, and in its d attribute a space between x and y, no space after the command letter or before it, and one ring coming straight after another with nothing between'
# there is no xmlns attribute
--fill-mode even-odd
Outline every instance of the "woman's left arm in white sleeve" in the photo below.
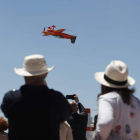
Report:
<svg viewBox="0 0 140 140"><path fill-rule="evenodd" d="M106 140L111 132L114 122L114 110L109 100L104 97L99 99L99 113L97 122L97 131L101 140Z"/></svg>

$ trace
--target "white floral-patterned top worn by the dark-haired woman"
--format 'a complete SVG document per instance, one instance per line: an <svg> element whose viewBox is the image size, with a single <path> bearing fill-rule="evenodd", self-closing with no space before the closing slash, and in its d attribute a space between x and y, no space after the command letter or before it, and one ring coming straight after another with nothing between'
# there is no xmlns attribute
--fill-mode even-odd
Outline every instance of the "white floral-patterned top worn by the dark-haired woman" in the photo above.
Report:
<svg viewBox="0 0 140 140"><path fill-rule="evenodd" d="M120 140L140 140L140 101L132 96L132 104L124 104L117 92L99 98L96 130L101 140L107 140L113 130Z"/></svg>

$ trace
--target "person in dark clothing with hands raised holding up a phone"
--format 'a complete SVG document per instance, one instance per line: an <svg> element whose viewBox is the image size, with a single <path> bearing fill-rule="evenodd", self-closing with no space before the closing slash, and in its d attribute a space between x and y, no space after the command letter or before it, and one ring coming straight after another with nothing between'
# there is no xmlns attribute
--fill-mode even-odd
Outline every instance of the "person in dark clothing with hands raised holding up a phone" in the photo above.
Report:
<svg viewBox="0 0 140 140"><path fill-rule="evenodd" d="M76 103L70 102L73 112L67 121L73 130L73 139L86 140L88 114L84 106L79 102L78 96L76 94L74 95ZM78 105L78 107L76 104ZM78 109L80 111L80 114L77 113Z"/></svg>

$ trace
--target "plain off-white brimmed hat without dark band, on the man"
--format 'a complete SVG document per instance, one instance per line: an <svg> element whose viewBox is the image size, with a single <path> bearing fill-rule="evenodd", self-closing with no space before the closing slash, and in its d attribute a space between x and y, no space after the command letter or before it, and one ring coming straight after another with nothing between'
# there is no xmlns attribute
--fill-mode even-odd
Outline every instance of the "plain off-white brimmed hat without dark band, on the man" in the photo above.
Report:
<svg viewBox="0 0 140 140"><path fill-rule="evenodd" d="M48 73L55 67L47 68L43 55L35 54L24 58L23 68L15 68L15 73L21 76L37 76Z"/></svg>

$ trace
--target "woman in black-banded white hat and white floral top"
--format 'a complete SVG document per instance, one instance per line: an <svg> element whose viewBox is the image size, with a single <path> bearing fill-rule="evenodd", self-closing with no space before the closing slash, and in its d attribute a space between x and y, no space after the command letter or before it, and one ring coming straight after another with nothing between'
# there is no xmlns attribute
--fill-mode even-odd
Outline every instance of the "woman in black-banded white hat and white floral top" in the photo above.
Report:
<svg viewBox="0 0 140 140"><path fill-rule="evenodd" d="M135 80L128 76L127 65L112 61L95 79L101 84L96 127L100 139L140 140L140 101L128 88Z"/></svg>

